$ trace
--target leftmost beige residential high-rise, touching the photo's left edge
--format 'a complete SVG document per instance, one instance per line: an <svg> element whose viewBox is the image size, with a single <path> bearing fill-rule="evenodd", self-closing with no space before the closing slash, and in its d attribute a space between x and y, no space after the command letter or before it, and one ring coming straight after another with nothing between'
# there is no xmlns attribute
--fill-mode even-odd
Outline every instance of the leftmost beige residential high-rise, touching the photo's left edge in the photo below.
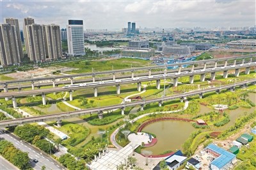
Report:
<svg viewBox="0 0 256 170"><path fill-rule="evenodd" d="M1 65L20 63L20 49L17 29L11 24L0 24L0 62Z"/></svg>

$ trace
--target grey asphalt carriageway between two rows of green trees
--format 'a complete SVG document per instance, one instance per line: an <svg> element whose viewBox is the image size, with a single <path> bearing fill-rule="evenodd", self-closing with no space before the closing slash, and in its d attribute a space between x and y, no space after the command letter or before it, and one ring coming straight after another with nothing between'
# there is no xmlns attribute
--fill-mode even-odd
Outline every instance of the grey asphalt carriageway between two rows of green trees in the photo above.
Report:
<svg viewBox="0 0 256 170"><path fill-rule="evenodd" d="M60 164L54 162L54 160L52 160L52 158L50 158L48 155L41 153L28 143L20 141L20 139L15 135L8 132L5 133L3 130L0 130L0 137L10 141L19 150L28 152L28 156L30 158L29 164L31 167L33 167L33 169L40 170L42 166L45 166L46 169L64 169ZM35 158L38 160L37 163L33 162L33 159Z"/></svg>

